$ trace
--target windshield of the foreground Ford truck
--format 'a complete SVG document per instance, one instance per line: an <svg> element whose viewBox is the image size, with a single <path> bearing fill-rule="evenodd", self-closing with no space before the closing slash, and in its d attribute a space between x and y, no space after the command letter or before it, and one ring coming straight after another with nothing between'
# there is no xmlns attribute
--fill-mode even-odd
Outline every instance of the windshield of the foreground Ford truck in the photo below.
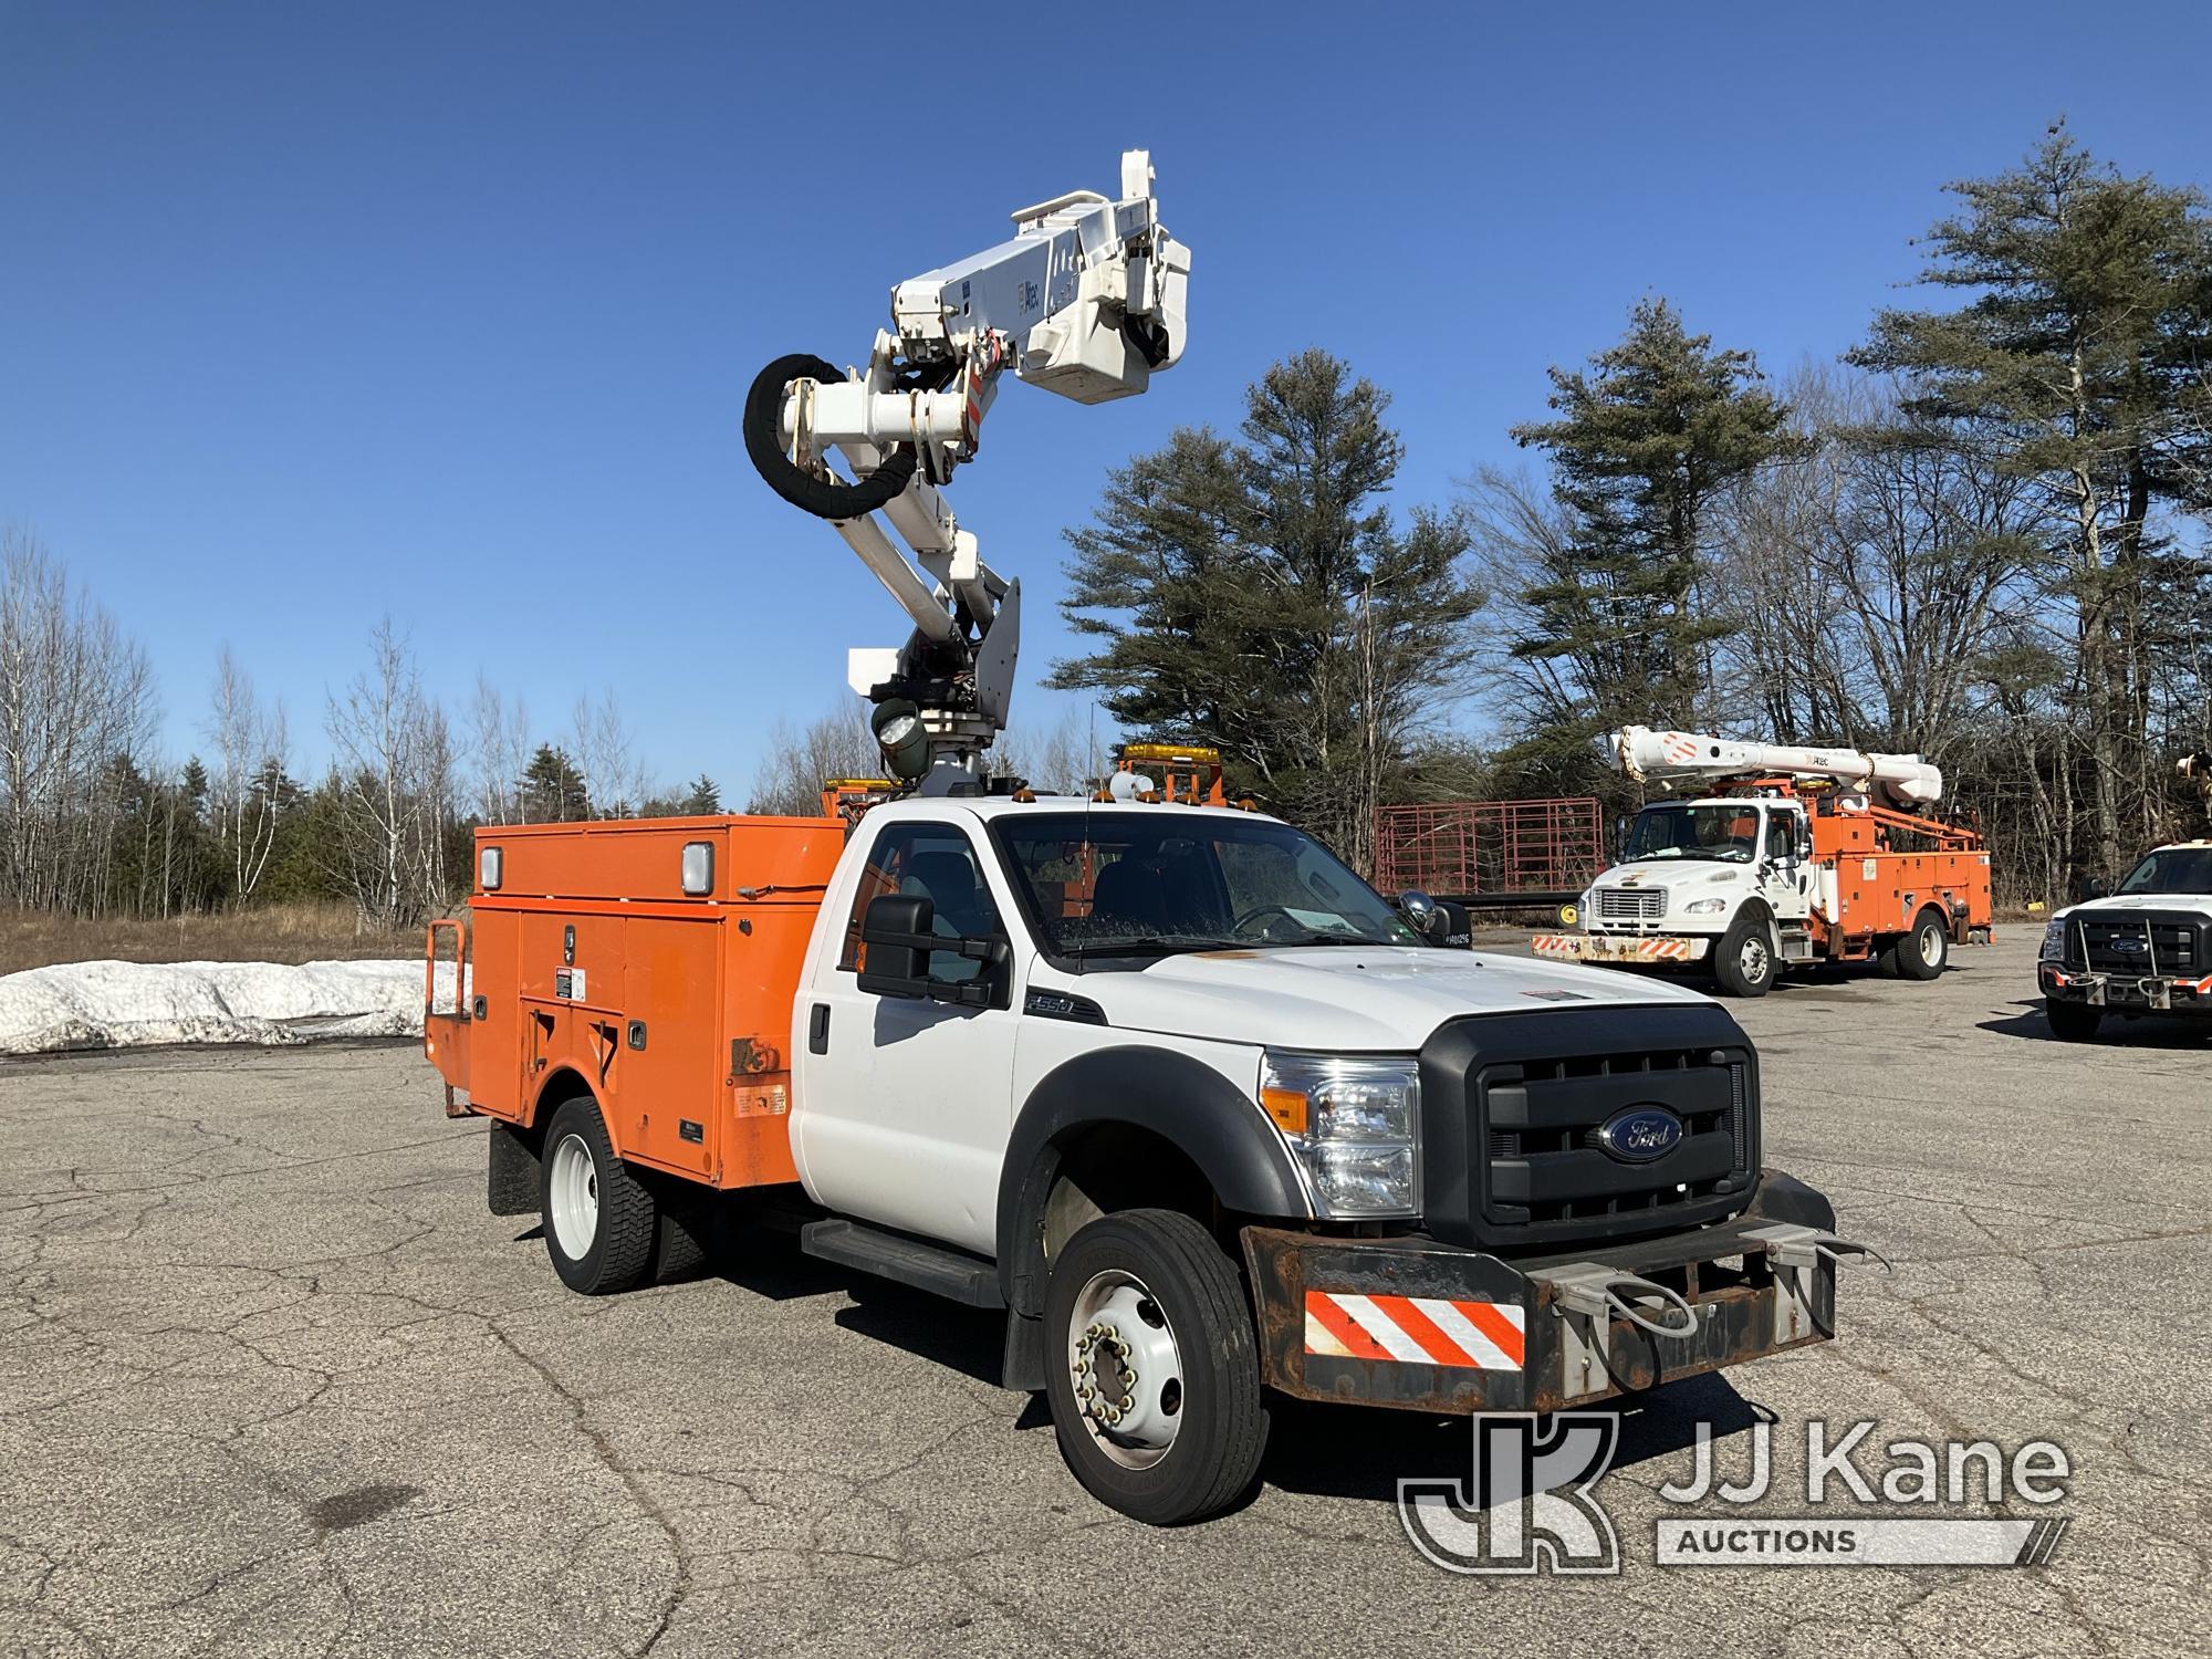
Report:
<svg viewBox="0 0 2212 1659"><path fill-rule="evenodd" d="M991 834L1051 956L1422 942L1336 854L1285 823L1172 807L1022 812Z"/></svg>

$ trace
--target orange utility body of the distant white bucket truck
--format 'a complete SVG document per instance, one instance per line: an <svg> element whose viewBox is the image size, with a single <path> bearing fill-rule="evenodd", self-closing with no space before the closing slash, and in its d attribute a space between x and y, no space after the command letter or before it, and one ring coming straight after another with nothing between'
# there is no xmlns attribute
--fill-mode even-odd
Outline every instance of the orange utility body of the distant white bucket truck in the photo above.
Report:
<svg viewBox="0 0 2212 1659"><path fill-rule="evenodd" d="M1953 940L1989 927L1989 852L1975 827L1878 807L1863 794L1812 787L1803 779L1756 779L1732 794L1805 805L1814 865L1836 872L1834 911L1823 914L1816 905L1809 920L1820 956L1863 962L1878 940L1909 929L1931 902L1949 918Z"/></svg>

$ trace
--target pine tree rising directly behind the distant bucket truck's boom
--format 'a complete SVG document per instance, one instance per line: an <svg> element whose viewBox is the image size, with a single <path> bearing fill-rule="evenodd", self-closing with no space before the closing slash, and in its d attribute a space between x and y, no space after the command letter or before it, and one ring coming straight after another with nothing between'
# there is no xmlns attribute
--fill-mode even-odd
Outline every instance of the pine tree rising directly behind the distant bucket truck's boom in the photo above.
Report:
<svg viewBox="0 0 2212 1659"><path fill-rule="evenodd" d="M1694 726L1705 648L1730 630L1699 604L1728 484L1790 449L1787 409L1750 352L1717 352L1663 299L1641 301L1588 369L1551 369L1555 420L1513 427L1551 456L1566 538L1531 573L1533 626L1513 655L1573 664L1584 719L1542 743L1579 748L1626 721Z"/></svg>

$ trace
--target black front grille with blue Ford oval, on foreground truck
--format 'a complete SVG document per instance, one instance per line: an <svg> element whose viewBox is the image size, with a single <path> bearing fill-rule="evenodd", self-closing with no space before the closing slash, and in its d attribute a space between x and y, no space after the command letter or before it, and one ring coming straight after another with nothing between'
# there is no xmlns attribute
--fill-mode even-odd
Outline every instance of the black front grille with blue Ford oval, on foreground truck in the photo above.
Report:
<svg viewBox="0 0 2212 1659"><path fill-rule="evenodd" d="M1759 1060L1725 1011L1586 1009L1458 1020L1422 1051L1431 1228L1568 1245L1741 1210L1759 1170ZM1661 1108L1681 1139L1632 1161L1599 1130ZM1462 1150L1449 1144L1453 1115Z"/></svg>

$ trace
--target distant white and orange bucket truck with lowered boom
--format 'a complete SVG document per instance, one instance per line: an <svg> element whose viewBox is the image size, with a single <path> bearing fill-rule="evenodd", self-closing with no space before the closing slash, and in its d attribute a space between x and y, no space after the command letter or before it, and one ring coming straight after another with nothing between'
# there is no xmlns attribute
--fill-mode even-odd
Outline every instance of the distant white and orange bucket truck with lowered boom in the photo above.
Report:
<svg viewBox="0 0 2212 1659"><path fill-rule="evenodd" d="M1933 816L1942 772L1918 754L1628 726L1613 761L1708 790L1635 816L1621 860L1582 896L1582 931L1537 936L1542 958L1703 967L1756 998L1809 962L1933 980L1953 945L1989 940L1989 854L1973 827Z"/></svg>

